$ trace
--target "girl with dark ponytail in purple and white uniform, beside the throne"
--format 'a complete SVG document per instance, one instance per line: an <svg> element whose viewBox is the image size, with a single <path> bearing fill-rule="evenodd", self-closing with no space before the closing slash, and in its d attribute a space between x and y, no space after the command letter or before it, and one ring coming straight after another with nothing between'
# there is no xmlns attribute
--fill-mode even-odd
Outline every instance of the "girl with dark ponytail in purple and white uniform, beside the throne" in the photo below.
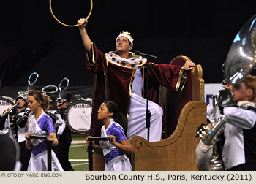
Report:
<svg viewBox="0 0 256 184"><path fill-rule="evenodd" d="M132 171L132 165L125 153L132 154L134 150L121 126L126 123L127 119L118 112L118 105L113 101L104 101L99 107L97 119L104 124L101 129L101 137L108 139L113 137L113 140L109 142L100 141L100 146L92 142L94 148L103 150L105 171Z"/></svg>

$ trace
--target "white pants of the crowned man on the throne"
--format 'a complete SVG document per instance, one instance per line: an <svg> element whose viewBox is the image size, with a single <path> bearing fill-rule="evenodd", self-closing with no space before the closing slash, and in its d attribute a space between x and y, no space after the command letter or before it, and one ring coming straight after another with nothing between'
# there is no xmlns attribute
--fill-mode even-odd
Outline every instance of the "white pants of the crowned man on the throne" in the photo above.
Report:
<svg viewBox="0 0 256 184"><path fill-rule="evenodd" d="M148 100L148 110L151 112L149 142L159 141L162 137L162 107ZM146 129L146 99L132 93L127 127L127 138L141 136L148 139Z"/></svg>

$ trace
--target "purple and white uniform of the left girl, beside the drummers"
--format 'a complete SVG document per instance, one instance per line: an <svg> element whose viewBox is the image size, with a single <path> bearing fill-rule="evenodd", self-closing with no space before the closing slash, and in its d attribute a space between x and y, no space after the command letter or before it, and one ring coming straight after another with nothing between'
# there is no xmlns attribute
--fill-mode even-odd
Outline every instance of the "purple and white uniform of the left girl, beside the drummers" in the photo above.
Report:
<svg viewBox="0 0 256 184"><path fill-rule="evenodd" d="M32 135L48 136L51 132L56 132L53 120L42 111L38 120L34 115L29 118L29 132ZM28 171L47 171L47 142L43 139L32 139L32 153L29 161ZM52 150L52 169L63 171L58 158Z"/></svg>

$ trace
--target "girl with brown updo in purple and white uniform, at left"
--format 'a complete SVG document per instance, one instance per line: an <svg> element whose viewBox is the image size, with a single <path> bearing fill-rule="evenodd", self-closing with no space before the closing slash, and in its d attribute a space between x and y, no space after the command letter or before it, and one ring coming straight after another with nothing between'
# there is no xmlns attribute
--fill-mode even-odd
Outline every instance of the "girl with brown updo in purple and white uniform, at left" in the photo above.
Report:
<svg viewBox="0 0 256 184"><path fill-rule="evenodd" d="M52 145L58 145L56 130L53 126L53 120L45 114L44 110L48 107L48 97L43 95L41 91L29 91L28 97L29 109L34 112L29 117L28 132L25 134L26 147L31 150L31 158L29 161L29 171L47 171L47 142L42 139L31 139L31 135L47 136L48 141L52 141ZM51 151L52 169L62 171L56 154Z"/></svg>

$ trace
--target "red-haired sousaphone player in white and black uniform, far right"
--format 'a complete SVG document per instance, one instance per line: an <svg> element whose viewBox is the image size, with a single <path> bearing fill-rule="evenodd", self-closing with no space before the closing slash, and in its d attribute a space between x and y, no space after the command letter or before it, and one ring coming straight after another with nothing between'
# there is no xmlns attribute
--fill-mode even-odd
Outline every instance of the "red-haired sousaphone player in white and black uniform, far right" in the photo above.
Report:
<svg viewBox="0 0 256 184"><path fill-rule="evenodd" d="M219 91L219 110L225 115L224 145L221 156L225 170L256 170L256 77L248 75L241 83ZM211 132L212 134L213 132ZM211 146L200 144L196 148L197 166L206 166ZM205 166L203 166L203 161Z"/></svg>

